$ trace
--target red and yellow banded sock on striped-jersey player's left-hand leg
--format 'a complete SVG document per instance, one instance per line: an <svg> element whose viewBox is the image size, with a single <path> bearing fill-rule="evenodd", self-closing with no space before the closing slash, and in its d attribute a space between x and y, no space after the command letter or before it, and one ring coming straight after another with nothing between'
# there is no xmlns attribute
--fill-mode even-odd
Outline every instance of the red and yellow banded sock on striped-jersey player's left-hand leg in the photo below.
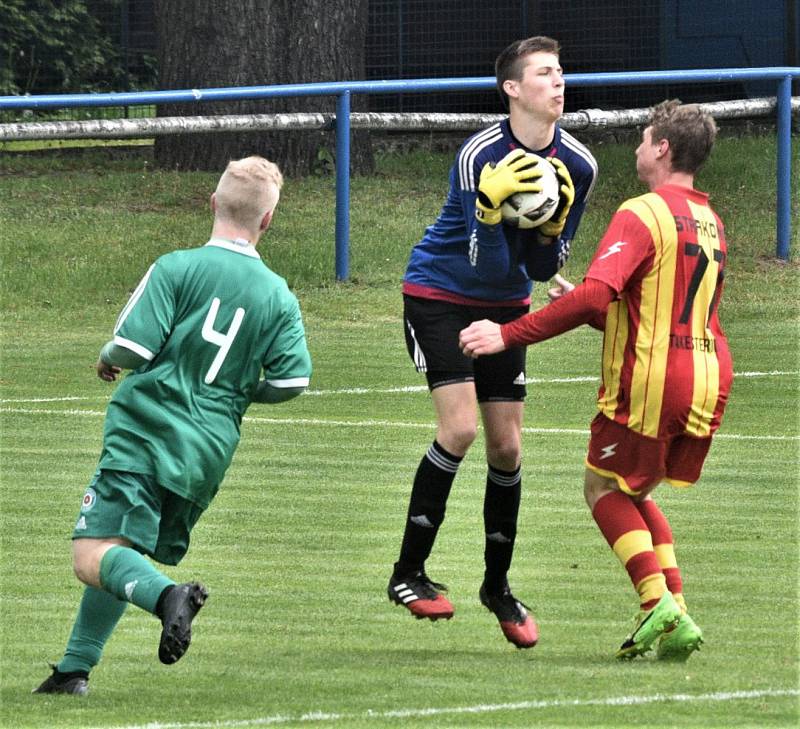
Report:
<svg viewBox="0 0 800 729"><path fill-rule="evenodd" d="M633 500L619 491L606 494L592 511L597 526L623 564L639 593L642 610L649 610L667 590L653 538Z"/></svg>

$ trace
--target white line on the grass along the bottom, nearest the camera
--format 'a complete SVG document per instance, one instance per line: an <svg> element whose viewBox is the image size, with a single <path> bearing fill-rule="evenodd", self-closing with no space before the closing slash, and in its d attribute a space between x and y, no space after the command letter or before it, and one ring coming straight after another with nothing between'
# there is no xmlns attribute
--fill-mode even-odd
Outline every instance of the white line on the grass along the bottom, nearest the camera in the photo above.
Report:
<svg viewBox="0 0 800 729"><path fill-rule="evenodd" d="M275 714L255 719L238 719L230 721L187 721L187 722L150 722L148 724L129 724L114 726L113 729L223 729L248 726L274 726L276 724L322 724L338 721L356 721L370 719L413 719L428 716L458 714L491 714L498 711L531 711L536 709L582 708L584 706L641 706L658 703L704 703L722 701L748 701L751 699L778 698L781 696L797 696L796 689L763 690L763 691L717 691L707 694L654 694L652 696L609 696L601 699L554 699L552 701L516 701L507 704L476 704L473 706L442 706L422 709L389 709L386 711L367 711L357 713L338 713L311 711L296 716ZM106 727L105 729L112 729Z"/></svg>

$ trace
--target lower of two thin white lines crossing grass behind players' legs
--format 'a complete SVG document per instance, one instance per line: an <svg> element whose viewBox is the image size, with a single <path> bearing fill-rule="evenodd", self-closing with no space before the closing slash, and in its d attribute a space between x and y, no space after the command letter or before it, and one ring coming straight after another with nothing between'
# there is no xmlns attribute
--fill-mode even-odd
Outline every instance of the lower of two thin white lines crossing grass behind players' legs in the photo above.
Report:
<svg viewBox="0 0 800 729"><path fill-rule="evenodd" d="M40 408L0 408L0 413L16 415L86 415L88 417L102 418L103 410L44 410ZM322 425L336 428L415 428L433 430L435 423L404 423L397 420L328 420L326 418L260 418L245 415L242 418L246 423L261 425ZM588 428L533 428L523 427L523 433L533 435L589 435ZM744 435L742 433L717 433L714 439L722 440L759 440L781 441L800 440L800 435Z"/></svg>

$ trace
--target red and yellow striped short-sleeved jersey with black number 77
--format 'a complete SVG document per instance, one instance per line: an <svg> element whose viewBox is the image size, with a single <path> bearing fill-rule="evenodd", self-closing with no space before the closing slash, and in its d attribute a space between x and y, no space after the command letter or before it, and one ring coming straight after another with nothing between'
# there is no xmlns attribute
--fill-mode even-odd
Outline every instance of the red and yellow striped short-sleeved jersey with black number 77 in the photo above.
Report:
<svg viewBox="0 0 800 729"><path fill-rule="evenodd" d="M705 193L665 185L620 206L586 273L618 294L603 339L606 417L654 438L719 427L733 379L718 317L726 255Z"/></svg>

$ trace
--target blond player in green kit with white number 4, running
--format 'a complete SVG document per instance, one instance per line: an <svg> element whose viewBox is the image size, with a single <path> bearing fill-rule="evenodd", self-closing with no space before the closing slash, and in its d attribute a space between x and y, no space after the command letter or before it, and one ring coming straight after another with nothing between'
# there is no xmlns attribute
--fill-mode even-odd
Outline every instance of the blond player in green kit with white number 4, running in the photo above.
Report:
<svg viewBox="0 0 800 729"><path fill-rule="evenodd" d="M36 693L87 693L128 603L161 620L163 663L189 647L208 592L198 582L176 585L147 557L178 564L230 465L248 405L295 397L311 375L297 299L255 248L282 183L261 157L231 162L211 196L211 239L150 267L100 352L101 379L133 371L108 405L73 532L73 566L86 585L78 615Z"/></svg>

